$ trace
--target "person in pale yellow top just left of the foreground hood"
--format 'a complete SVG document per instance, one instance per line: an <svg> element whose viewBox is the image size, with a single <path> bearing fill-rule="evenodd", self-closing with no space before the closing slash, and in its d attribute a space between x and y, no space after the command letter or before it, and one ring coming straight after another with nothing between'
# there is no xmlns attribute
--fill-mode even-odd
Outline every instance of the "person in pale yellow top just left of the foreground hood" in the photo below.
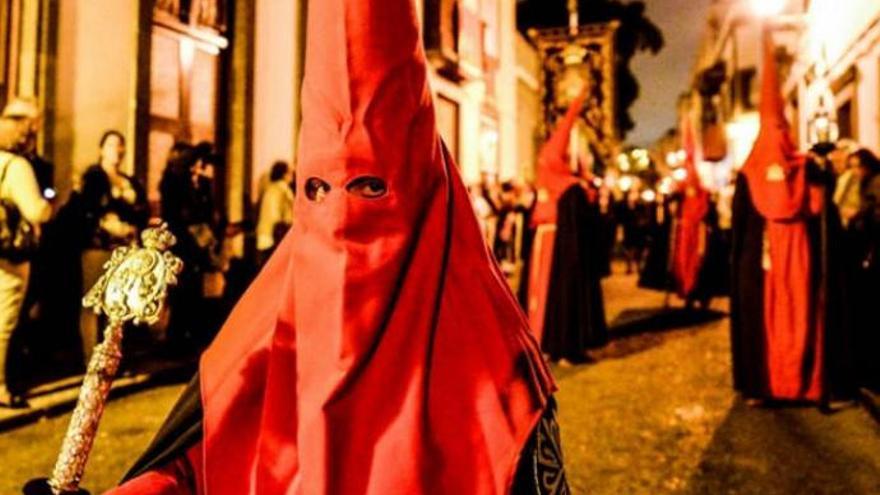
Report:
<svg viewBox="0 0 880 495"><path fill-rule="evenodd" d="M260 198L257 215L257 261L262 266L293 225L293 170L278 161L269 171L269 184Z"/></svg>

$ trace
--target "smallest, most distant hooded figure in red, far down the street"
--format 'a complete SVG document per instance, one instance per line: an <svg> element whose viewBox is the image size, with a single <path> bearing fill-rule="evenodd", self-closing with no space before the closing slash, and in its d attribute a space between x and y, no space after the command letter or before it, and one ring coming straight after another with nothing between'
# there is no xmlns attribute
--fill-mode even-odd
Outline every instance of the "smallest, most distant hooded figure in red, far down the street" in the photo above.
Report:
<svg viewBox="0 0 880 495"><path fill-rule="evenodd" d="M690 119L682 120L682 147L687 158L685 170L687 178L679 188L681 205L675 224L672 278L678 295L690 299L697 288L700 269L703 266L707 247L707 232L704 223L709 213L709 191L703 187L696 167L697 143Z"/></svg>

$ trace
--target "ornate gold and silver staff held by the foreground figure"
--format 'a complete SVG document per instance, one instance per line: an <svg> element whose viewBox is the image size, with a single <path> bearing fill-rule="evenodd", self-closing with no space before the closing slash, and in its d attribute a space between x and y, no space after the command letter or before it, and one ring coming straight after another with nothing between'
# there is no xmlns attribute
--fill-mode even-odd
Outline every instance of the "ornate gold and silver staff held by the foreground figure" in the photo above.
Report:
<svg viewBox="0 0 880 495"><path fill-rule="evenodd" d="M48 482L29 483L26 493L86 493L79 483L122 359L123 326L128 322L156 323L168 288L177 283L183 269L183 262L168 251L176 240L165 225L145 230L141 240L143 247L126 246L113 251L104 265L104 274L83 298L83 306L107 317L104 341L95 347L89 361L52 477Z"/></svg>

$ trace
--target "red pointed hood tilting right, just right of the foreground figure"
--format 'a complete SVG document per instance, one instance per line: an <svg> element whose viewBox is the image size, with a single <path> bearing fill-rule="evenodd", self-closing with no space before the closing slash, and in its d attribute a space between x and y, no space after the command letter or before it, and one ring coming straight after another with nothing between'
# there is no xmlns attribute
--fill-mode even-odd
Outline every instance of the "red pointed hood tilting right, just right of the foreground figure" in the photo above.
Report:
<svg viewBox="0 0 880 495"><path fill-rule="evenodd" d="M538 189L537 205L532 215L532 225L556 223L556 205L562 194L579 178L569 164L568 146L571 130L584 106L586 92L578 96L568 107L565 115L550 134L550 139L538 153L538 170L535 187Z"/></svg>

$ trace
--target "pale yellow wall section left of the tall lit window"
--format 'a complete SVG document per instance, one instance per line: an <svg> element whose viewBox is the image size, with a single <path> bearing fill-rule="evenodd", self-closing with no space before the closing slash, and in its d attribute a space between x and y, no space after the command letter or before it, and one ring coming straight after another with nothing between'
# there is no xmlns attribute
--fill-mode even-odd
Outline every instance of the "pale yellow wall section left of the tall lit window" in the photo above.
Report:
<svg viewBox="0 0 880 495"><path fill-rule="evenodd" d="M106 129L134 136L138 0L89 0L57 3L57 45L48 121L56 183L70 191L84 167L98 157ZM100 36L96 36L100 30ZM129 143L129 150L133 150ZM126 167L133 170L133 153Z"/></svg>

